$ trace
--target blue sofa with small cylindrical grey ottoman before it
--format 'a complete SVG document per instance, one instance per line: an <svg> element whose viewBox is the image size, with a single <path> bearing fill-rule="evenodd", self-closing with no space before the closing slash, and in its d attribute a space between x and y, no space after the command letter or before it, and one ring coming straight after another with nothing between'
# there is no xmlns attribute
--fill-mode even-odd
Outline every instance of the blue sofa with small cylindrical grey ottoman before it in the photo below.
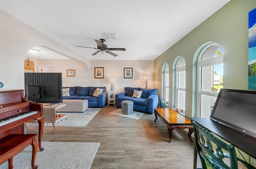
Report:
<svg viewBox="0 0 256 169"><path fill-rule="evenodd" d="M134 90L142 91L140 98L132 97ZM125 87L124 92L116 94L116 106L121 107L123 100L133 101L133 110L138 110L147 113L154 113L154 108L158 108L159 96L158 89L148 89L139 87Z"/></svg>

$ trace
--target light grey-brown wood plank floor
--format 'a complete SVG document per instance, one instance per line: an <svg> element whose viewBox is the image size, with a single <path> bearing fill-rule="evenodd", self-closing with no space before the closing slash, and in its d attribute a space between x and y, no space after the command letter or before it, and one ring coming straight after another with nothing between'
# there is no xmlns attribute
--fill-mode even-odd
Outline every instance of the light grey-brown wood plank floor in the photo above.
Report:
<svg viewBox="0 0 256 169"><path fill-rule="evenodd" d="M193 143L185 130L173 130L169 143L167 126L154 122L154 114L134 120L110 114L115 109L104 106L86 127L45 127L42 141L100 143L91 169L192 169Z"/></svg>

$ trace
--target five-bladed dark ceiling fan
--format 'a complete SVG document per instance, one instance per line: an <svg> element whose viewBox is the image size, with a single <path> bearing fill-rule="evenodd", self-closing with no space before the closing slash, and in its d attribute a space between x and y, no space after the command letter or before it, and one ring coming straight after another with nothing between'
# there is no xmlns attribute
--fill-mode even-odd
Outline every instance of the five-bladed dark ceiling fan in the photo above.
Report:
<svg viewBox="0 0 256 169"><path fill-rule="evenodd" d="M94 39L94 41L96 41L96 43L97 43L97 48L95 48L95 47L86 47L86 48L92 48L92 49L98 49L99 50L99 51L96 51L96 52L92 53L92 55L96 55L100 52L103 53L105 51L106 53L116 57L117 55L110 52L110 51L125 51L125 48L108 48L108 45L103 44L106 41L105 39L100 39L100 40ZM76 46L76 47L85 47L85 46Z"/></svg>

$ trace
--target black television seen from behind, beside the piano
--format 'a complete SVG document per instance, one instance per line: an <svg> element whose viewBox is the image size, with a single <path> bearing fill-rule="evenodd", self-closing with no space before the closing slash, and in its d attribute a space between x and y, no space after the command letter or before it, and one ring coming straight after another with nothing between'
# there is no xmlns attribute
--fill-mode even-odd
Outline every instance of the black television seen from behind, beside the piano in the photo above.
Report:
<svg viewBox="0 0 256 169"><path fill-rule="evenodd" d="M25 97L37 103L62 102L62 73L25 73Z"/></svg>

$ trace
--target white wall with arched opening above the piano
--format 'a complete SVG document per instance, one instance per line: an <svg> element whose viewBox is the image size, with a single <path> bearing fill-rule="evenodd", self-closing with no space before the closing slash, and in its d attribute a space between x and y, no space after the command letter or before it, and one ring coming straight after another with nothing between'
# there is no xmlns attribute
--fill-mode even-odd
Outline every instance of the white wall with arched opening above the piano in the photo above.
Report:
<svg viewBox="0 0 256 169"><path fill-rule="evenodd" d="M0 81L3 89L24 89L24 60L29 49L47 46L76 59L89 69L89 60L0 10ZM72 56L72 57L71 57Z"/></svg>

